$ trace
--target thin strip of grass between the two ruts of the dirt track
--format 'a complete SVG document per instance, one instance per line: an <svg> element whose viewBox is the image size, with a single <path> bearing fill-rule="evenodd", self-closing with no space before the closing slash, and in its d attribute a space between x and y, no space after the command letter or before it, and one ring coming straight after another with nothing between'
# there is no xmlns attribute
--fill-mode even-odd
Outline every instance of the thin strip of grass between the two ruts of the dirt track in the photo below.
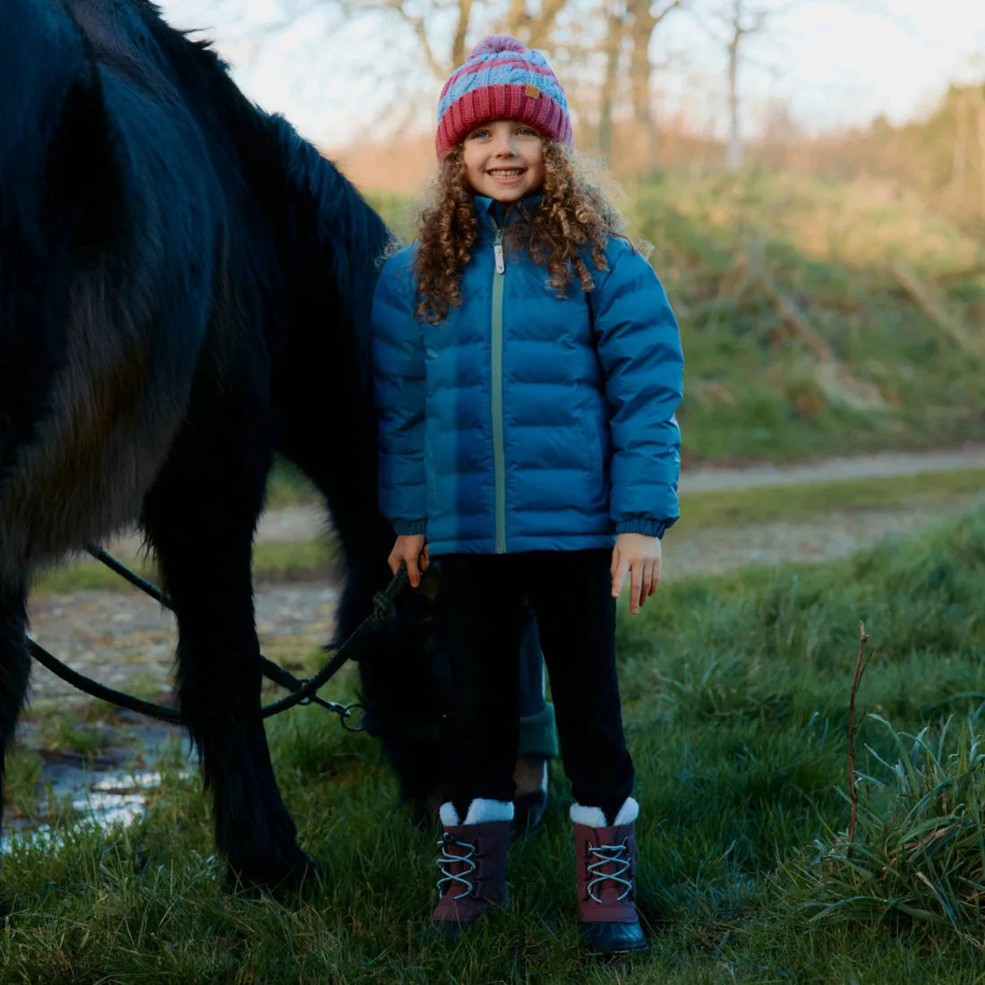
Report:
<svg viewBox="0 0 985 985"><path fill-rule="evenodd" d="M274 508L310 505L317 494L283 473L272 479ZM985 496L985 470L920 473L891 479L840 480L798 486L767 486L714 493L683 493L682 519L676 534L738 524L777 520L808 521L832 512L906 508L953 511ZM330 538L313 541L266 542L253 553L257 582L303 581L325 576L337 558ZM138 558L134 570L156 578L153 562ZM34 587L37 592L66 593L87 589L129 591L126 583L95 560L50 571Z"/></svg>

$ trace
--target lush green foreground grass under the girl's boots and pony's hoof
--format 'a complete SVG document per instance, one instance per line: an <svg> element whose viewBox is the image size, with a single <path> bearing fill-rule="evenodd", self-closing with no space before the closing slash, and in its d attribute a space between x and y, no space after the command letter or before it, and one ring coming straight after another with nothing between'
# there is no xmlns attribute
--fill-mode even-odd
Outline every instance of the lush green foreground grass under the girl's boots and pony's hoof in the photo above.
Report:
<svg viewBox="0 0 985 985"><path fill-rule="evenodd" d="M645 955L602 963L579 952L563 781L543 827L511 848L511 909L454 950L420 939L434 832L416 832L394 810L393 780L370 740L305 708L268 735L302 841L332 874L326 886L287 904L225 895L208 802L198 781L178 775L175 751L148 817L129 830L73 826L54 850L15 845L0 979L981 981L981 921L967 908L955 921L919 912L939 916L955 887L982 882L983 597L979 510L831 565L683 580L621 618ZM861 694L871 714L857 768L870 793L856 872L839 870L835 856L845 855L860 620L877 650ZM326 696L353 688L350 676ZM942 783L954 791L947 802ZM931 829L950 841L930 860L937 868L919 869L926 882L914 864L882 896L873 891L882 883L860 863L863 849L875 857L874 846ZM845 902L863 894L853 880L873 897L867 905Z"/></svg>

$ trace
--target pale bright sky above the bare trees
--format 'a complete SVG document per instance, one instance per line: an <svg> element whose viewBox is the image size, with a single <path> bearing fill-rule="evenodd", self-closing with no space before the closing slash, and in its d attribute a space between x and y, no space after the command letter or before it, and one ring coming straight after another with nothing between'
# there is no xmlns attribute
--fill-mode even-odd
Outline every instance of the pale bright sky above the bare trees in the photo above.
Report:
<svg viewBox="0 0 985 985"><path fill-rule="evenodd" d="M247 96L323 147L385 138L405 116L433 125L440 84L420 64L413 38L380 15L342 20L338 0L292 20L282 6L292 2L159 0L174 27L213 39ZM691 0L693 12L669 17L651 49L661 66L658 113L684 114L693 129L718 134L726 61L707 12L719 2ZM774 101L819 133L881 114L902 122L929 111L949 83L985 79L985 0L756 2L774 14L748 39L740 76L747 132Z"/></svg>

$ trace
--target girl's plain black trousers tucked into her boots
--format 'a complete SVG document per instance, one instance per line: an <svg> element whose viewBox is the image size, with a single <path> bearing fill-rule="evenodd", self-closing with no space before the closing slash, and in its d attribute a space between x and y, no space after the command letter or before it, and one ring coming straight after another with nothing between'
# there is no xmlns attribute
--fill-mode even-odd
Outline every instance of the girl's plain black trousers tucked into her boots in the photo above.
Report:
<svg viewBox="0 0 985 985"><path fill-rule="evenodd" d="M575 801L612 822L631 793L611 559L608 549L440 559L439 624L452 676L448 777L459 817L477 797L513 799L524 596L537 618Z"/></svg>

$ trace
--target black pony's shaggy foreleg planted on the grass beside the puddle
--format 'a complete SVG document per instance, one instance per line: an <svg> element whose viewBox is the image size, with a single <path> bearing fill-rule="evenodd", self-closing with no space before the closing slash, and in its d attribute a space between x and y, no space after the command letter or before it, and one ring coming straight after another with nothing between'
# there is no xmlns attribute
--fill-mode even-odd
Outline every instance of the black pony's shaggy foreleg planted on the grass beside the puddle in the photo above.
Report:
<svg viewBox="0 0 985 985"><path fill-rule="evenodd" d="M297 847L260 718L260 650L250 559L270 449L236 415L179 435L144 507L178 620L181 710L212 790L230 878L293 886L312 871ZM214 439L212 435L215 435Z"/></svg>

